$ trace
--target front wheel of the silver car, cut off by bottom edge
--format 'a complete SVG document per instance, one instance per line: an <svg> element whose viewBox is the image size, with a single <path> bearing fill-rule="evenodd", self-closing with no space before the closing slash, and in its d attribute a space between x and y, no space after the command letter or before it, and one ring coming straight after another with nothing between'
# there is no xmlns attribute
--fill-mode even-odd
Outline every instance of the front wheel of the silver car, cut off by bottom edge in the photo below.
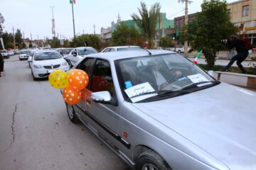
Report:
<svg viewBox="0 0 256 170"><path fill-rule="evenodd" d="M164 159L151 149L139 155L136 163L136 169L171 170L170 166L164 161Z"/></svg>

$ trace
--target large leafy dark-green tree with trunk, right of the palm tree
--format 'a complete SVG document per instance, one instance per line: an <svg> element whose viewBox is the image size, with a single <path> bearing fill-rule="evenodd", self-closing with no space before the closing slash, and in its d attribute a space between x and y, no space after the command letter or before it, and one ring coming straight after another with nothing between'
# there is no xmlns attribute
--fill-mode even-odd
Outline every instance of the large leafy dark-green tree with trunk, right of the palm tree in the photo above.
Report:
<svg viewBox="0 0 256 170"><path fill-rule="evenodd" d="M226 1L204 0L201 8L197 18L188 23L183 38L191 41L193 49L203 50L208 69L213 69L217 52L225 49L221 41L235 34L235 26L230 22Z"/></svg>

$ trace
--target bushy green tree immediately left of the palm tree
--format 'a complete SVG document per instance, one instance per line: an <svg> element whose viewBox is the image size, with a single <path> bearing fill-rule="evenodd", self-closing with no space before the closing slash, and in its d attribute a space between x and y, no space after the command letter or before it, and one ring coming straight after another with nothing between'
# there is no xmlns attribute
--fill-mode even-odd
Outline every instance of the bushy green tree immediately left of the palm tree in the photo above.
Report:
<svg viewBox="0 0 256 170"><path fill-rule="evenodd" d="M113 45L135 45L134 39L139 37L139 30L134 26L129 27L125 23L119 23L112 33Z"/></svg>

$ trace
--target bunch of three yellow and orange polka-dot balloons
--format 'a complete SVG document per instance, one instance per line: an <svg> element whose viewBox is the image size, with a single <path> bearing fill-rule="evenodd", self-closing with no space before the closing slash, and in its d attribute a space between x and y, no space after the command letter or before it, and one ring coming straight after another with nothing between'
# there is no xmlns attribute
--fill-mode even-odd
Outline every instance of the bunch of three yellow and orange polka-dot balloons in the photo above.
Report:
<svg viewBox="0 0 256 170"><path fill-rule="evenodd" d="M56 89L63 89L63 99L68 104L78 103L81 99L81 89L89 83L89 77L81 69L71 69L68 73L55 69L50 73L49 83Z"/></svg>

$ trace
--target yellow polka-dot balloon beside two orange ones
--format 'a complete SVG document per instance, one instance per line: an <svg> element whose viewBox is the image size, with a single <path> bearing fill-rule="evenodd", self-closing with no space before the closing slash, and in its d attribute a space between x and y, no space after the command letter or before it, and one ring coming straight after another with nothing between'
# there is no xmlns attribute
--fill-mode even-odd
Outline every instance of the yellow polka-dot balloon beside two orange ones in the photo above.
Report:
<svg viewBox="0 0 256 170"><path fill-rule="evenodd" d="M55 69L50 73L48 81L56 89L62 89L68 86L68 73L62 69Z"/></svg>

